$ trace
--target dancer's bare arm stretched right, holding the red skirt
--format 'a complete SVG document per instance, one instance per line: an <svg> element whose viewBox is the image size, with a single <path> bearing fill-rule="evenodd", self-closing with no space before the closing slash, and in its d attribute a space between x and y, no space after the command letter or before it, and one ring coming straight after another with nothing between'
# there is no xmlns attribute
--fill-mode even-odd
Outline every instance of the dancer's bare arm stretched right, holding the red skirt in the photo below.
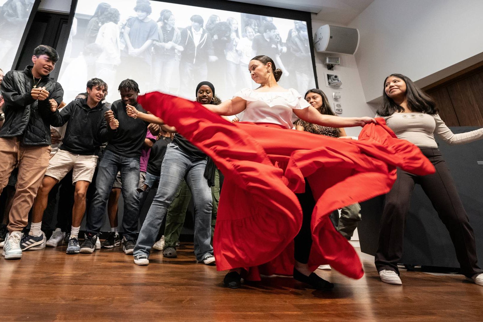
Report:
<svg viewBox="0 0 483 322"><path fill-rule="evenodd" d="M319 113L313 106L309 106L302 110L293 110L298 118L309 123L318 124L321 126L332 127L352 127L352 126L364 126L367 123L375 123L372 117L339 117L333 115L325 115Z"/></svg>

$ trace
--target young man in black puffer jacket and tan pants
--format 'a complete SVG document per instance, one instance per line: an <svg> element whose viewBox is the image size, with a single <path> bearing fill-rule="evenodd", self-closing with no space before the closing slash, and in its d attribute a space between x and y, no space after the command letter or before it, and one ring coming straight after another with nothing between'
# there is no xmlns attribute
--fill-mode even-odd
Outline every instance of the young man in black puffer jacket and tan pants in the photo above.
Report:
<svg viewBox="0 0 483 322"><path fill-rule="evenodd" d="M34 50L33 66L7 72L0 85L5 100L5 123L0 129L0 193L18 163L9 238L2 252L6 259L22 257L21 231L49 164L50 124L64 95L62 86L49 77L58 59L54 48L40 45Z"/></svg>

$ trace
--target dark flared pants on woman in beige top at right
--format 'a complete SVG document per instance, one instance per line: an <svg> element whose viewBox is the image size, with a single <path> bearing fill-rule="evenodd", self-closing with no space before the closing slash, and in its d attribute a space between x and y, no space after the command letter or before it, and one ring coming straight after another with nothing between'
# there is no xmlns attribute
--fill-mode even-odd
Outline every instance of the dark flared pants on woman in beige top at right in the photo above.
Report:
<svg viewBox="0 0 483 322"><path fill-rule="evenodd" d="M421 152L433 163L436 173L416 176L398 169L398 179L386 195L381 218L379 247L375 257L377 270L388 269L399 274L398 262L402 256L404 224L412 189L415 183L419 183L450 233L461 273L468 277L483 273L476 264L473 229L440 151L437 148L422 147Z"/></svg>

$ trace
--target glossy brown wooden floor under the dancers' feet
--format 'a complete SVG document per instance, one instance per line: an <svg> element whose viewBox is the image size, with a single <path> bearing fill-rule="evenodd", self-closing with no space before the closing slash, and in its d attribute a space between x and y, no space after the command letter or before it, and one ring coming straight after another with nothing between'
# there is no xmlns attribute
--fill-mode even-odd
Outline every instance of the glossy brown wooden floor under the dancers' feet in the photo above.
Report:
<svg viewBox="0 0 483 322"><path fill-rule="evenodd" d="M332 291L286 277L230 290L224 272L196 264L189 244L176 259L155 251L149 266L134 265L120 247L78 255L47 248L0 259L0 321L483 321L483 287L463 276L403 270L404 285L388 285L373 257L361 259L361 280L317 270Z"/></svg>

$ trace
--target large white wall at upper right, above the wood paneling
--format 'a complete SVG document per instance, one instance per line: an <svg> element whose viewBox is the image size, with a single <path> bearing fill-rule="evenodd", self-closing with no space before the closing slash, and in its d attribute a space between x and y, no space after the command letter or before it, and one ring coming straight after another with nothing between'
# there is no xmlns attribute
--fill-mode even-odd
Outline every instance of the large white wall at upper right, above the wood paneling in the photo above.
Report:
<svg viewBox="0 0 483 322"><path fill-rule="evenodd" d="M421 87L483 60L482 0L375 0L349 25L358 28L355 61L366 101L384 78L402 73Z"/></svg>

